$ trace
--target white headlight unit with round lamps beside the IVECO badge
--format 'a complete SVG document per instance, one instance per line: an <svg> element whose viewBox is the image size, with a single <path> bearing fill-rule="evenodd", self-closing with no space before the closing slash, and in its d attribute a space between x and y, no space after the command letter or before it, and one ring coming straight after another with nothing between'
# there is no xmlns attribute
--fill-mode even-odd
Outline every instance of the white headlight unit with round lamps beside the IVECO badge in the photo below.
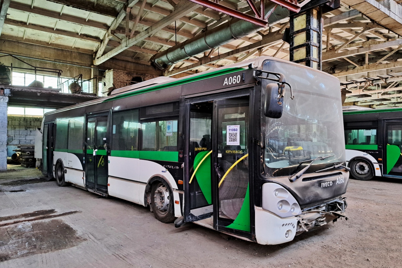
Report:
<svg viewBox="0 0 402 268"><path fill-rule="evenodd" d="M296 199L283 186L267 182L262 187L263 209L281 218L300 215L301 209Z"/></svg>

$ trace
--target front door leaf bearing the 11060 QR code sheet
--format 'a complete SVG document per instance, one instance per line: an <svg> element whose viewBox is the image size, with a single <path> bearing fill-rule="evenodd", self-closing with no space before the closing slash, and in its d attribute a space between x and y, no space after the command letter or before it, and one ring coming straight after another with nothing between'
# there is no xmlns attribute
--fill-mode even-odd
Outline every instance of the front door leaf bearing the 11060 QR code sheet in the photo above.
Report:
<svg viewBox="0 0 402 268"><path fill-rule="evenodd" d="M217 229L250 232L249 97L217 100L215 104Z"/></svg>

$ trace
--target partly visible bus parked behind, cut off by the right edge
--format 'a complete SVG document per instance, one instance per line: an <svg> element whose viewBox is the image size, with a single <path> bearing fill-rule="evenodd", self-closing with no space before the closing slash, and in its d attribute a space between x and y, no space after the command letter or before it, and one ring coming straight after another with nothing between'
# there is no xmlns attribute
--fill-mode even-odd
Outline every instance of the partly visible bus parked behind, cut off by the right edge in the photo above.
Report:
<svg viewBox="0 0 402 268"><path fill-rule="evenodd" d="M343 121L351 176L402 178L402 108L347 109Z"/></svg>

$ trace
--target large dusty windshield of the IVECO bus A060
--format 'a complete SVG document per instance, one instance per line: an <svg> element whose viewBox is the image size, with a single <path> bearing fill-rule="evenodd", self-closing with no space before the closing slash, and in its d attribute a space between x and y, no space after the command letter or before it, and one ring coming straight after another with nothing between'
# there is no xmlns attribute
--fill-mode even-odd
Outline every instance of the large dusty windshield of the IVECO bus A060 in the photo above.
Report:
<svg viewBox="0 0 402 268"><path fill-rule="evenodd" d="M295 98L290 99L289 90L285 93L282 117L262 115L265 176L291 176L310 164L305 160L318 156L333 155L315 161L305 173L345 162L339 82L309 69L294 69L284 72Z"/></svg>

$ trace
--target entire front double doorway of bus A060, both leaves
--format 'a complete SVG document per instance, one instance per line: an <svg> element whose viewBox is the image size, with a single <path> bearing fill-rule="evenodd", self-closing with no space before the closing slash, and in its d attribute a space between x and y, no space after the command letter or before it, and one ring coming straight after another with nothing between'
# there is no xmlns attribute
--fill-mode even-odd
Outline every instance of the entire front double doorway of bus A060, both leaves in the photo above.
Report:
<svg viewBox="0 0 402 268"><path fill-rule="evenodd" d="M188 102L185 221L250 236L249 97Z"/></svg>

